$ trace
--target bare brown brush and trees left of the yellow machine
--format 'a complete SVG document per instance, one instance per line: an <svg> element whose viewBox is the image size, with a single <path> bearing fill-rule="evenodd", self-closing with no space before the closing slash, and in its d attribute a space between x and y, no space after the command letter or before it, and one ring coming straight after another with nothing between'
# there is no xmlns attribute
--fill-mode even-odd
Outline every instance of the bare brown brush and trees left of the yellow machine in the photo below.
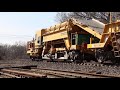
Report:
<svg viewBox="0 0 120 90"><path fill-rule="evenodd" d="M14 45L0 45L0 60L25 58L28 58L26 55L26 43L16 42Z"/></svg>

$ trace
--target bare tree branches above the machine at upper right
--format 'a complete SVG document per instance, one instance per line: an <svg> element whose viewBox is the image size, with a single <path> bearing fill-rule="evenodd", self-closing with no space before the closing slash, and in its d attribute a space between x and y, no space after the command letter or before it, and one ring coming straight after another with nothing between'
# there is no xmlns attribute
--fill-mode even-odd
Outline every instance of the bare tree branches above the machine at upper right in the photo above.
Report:
<svg viewBox="0 0 120 90"><path fill-rule="evenodd" d="M76 19L97 19L105 24L110 21L109 12L59 12L56 15L57 22L64 22L69 18L74 17ZM112 12L112 21L120 19L120 12Z"/></svg>

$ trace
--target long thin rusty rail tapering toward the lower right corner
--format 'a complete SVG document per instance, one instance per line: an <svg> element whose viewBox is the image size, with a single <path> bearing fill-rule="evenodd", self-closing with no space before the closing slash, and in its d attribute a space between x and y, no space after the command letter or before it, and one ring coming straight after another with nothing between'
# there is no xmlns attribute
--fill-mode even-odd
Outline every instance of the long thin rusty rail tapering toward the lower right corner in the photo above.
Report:
<svg viewBox="0 0 120 90"><path fill-rule="evenodd" d="M95 73L86 73L78 71L63 71L63 70L53 70L53 69L40 69L39 71L46 73L56 73L61 75L73 76L76 78L120 78L120 76L114 75L102 75Z"/></svg>

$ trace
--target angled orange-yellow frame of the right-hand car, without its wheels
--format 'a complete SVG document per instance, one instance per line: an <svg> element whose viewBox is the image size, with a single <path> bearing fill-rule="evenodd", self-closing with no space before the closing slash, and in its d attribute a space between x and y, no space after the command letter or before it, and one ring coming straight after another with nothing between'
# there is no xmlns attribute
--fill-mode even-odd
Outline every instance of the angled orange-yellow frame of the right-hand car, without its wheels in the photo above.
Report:
<svg viewBox="0 0 120 90"><path fill-rule="evenodd" d="M99 43L88 44L87 48L104 48L111 42L111 37L120 32L120 22L106 24Z"/></svg>

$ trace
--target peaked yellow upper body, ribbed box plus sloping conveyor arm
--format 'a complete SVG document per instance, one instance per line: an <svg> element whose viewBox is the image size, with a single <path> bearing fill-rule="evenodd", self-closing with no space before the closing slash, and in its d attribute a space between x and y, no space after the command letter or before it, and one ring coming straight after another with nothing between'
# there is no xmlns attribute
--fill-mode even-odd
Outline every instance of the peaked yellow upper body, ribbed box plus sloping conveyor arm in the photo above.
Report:
<svg viewBox="0 0 120 90"><path fill-rule="evenodd" d="M75 19L70 19L64 23L57 24L45 30L43 34L43 42L54 42L56 40L64 40L67 50L79 50L79 45L72 45L70 33L91 34L94 37L101 39L101 34L77 22Z"/></svg>

